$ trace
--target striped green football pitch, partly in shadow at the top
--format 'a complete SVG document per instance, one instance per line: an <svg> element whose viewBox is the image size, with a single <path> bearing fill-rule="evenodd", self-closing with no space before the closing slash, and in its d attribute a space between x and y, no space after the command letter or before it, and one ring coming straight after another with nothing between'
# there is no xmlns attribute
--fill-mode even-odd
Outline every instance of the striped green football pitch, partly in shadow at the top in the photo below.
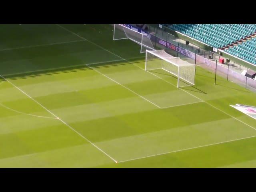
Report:
<svg viewBox="0 0 256 192"><path fill-rule="evenodd" d="M0 25L0 167L256 167L256 94L177 88L108 24Z"/></svg>

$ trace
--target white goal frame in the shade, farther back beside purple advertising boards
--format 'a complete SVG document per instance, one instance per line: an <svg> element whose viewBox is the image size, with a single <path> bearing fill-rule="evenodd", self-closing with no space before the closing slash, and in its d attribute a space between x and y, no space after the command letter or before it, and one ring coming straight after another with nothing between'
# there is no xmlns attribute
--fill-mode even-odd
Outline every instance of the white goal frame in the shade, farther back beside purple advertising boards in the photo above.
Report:
<svg viewBox="0 0 256 192"><path fill-rule="evenodd" d="M147 35L136 30L130 29L121 24L114 24L113 40L130 39L140 45L140 53L145 53L146 50L155 50L151 40Z"/></svg>

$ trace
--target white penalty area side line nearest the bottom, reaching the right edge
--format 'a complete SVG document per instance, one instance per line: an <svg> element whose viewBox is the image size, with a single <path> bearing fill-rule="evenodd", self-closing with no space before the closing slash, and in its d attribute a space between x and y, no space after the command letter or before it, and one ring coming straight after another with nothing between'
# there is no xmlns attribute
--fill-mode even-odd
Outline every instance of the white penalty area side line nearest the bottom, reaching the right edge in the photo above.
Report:
<svg viewBox="0 0 256 192"><path fill-rule="evenodd" d="M240 139L234 139L234 140L229 140L229 141L224 141L224 142L218 142L218 143L213 143L213 144L208 144L208 145L202 145L202 146L197 146L197 147L186 148L186 149L182 149L182 150L170 151L170 152L166 152L166 153L160 153L160 154L154 154L154 155L149 155L149 156L144 156L144 157L124 160L124 161L118 161L118 163L128 162L128 161L133 161L133 160L138 160L138 159L144 159L144 158L149 158L149 157L154 157L154 156L160 156L160 155L164 155L164 154L170 154L170 153L186 151L186 150L191 150L191 149L196 149L196 148L202 148L202 147L207 147L207 146L213 146L213 145L218 145L218 144L223 144L223 143L228 143L228 142L233 142L233 141L238 141L238 140L244 140L244 139L254 138L254 137L256 137L256 136L244 137L244 138L240 138Z"/></svg>

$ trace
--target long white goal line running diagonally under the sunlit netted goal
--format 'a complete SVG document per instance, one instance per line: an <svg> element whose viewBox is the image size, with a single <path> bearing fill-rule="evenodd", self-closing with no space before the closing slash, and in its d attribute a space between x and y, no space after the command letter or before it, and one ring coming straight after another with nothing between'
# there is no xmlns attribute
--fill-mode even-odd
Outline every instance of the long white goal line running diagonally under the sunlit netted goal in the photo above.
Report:
<svg viewBox="0 0 256 192"><path fill-rule="evenodd" d="M70 30L68 30L68 29L66 29L66 28L64 28L64 27L62 27L62 26L60 26L60 25L58 25L58 24L56 24L56 25L57 25L57 26L59 26L60 28L63 28L64 30L66 30L66 31L68 31L68 32L70 32L70 33L72 33L72 34L74 34L74 35L76 35L76 36L78 36L78 37L80 37L80 38L84 39L84 40L87 40L86 38L83 38L82 36L80 36L80 35L78 35L78 34L76 34L76 33L72 32L72 31L70 31ZM92 44L94 44L94 45L96 45L96 46L98 46L99 48L101 48L101 49L105 50L106 52L109 52L109 53L111 53L111 54L113 54L113 55L115 55L115 56L117 56L117 57L119 57L119 58L121 58L121 59L123 59L123 60L125 60L125 61L127 61L127 62L129 62L129 63L131 63L131 64L133 64L134 66L137 66L136 64L134 64L134 63L132 63L132 62L130 62L130 61L128 61L128 60L126 60L126 59L124 59L124 58L122 58L122 57L118 56L117 54L114 54L113 52L111 52L111 51L109 51L109 50L107 50L107 49L103 48L102 46L100 46L100 45L98 45L98 44L96 44L96 43L94 43L94 42L92 42L92 41L90 41L90 40L87 40L87 41L88 41L88 42L90 42L90 43L92 43ZM138 68L141 68L140 66L137 66L137 67L138 67ZM142 69L142 70L144 70L143 68L141 68L141 69ZM144 71L145 71L145 70L144 70ZM146 71L146 72L149 72L149 71ZM150 74L152 74L152 72L149 72L149 73L150 73ZM155 75L155 74L152 74L152 75L154 75L154 76L156 76L156 77L160 78L159 76L157 76L157 75ZM163 78L160 78L160 79L164 80ZM170 83L170 82L168 82L168 81L166 81L166 80L164 80L164 81L165 81L165 82L167 82L167 83L169 83L169 84L171 84L172 86L175 86L174 84L172 84L172 83ZM177 86L175 86L175 87L177 87ZM224 112L223 110L221 110L221 109L219 109L219 108L217 108L217 107L213 106L212 104L210 104L210 103L208 103L208 102L206 102L206 101L204 101L204 100L202 100L202 99L198 98L197 96L194 96L193 94L191 94L191 93L187 92L186 90L183 90L183 89L181 89L181 88L178 88L178 89L180 89L180 90L182 90L182 91L186 92L187 94L190 94L191 96L193 96L193 97L195 97L195 98L197 98L197 99L199 99L199 100L201 100L201 101L205 102L206 104L208 104L208 105L212 106L213 108L215 108L215 109L217 109L217 110L219 110L219 111L223 112L224 114L226 114L226 115L228 115L228 116L230 116L230 117L232 117L232 118L234 118L234 119L238 120L239 122L241 122L241 123L243 123L243 124L245 124L245 125L249 126L250 128L253 128L254 130L256 130L256 128L254 128L254 127L252 127L252 126L250 126L250 125L246 124L245 122L243 122L243 121L241 121L241 120L239 120L239 119L235 118L234 116L232 116L232 115L230 115L230 114L228 114L228 113Z"/></svg>

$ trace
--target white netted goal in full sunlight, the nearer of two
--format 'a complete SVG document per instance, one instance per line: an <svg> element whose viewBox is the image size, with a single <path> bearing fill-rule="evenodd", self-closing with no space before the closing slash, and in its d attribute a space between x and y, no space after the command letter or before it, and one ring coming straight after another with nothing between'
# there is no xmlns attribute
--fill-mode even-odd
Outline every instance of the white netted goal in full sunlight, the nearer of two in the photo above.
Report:
<svg viewBox="0 0 256 192"><path fill-rule="evenodd" d="M164 50L146 50L145 70L162 69L177 77L177 87L195 84L195 64L166 53Z"/></svg>

